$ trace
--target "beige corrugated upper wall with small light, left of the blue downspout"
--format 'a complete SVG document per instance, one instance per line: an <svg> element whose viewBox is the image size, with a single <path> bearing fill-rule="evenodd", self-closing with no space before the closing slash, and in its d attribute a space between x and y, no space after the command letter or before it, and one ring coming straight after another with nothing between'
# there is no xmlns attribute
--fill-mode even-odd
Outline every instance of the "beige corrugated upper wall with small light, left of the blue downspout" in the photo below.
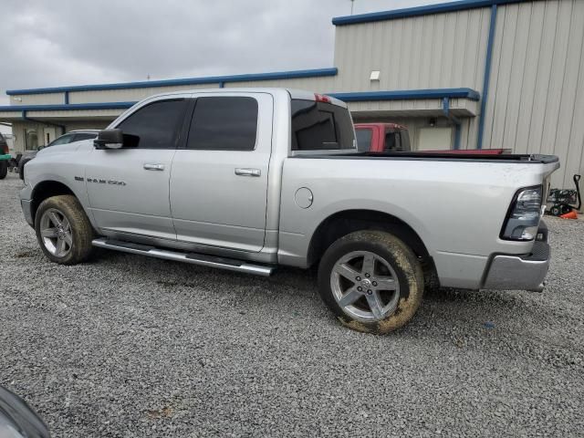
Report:
<svg viewBox="0 0 584 438"><path fill-rule="evenodd" d="M490 9L337 26L335 88L482 88ZM379 82L370 81L380 70Z"/></svg>

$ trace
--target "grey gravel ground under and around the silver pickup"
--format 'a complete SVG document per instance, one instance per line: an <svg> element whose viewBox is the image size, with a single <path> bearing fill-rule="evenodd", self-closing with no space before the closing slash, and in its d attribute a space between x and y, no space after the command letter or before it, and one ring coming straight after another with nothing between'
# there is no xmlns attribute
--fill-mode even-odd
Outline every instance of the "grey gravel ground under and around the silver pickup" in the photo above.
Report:
<svg viewBox="0 0 584 438"><path fill-rule="evenodd" d="M0 182L0 384L55 437L584 436L584 223L547 219L544 294L441 290L389 336L298 270L101 252L49 263Z"/></svg>

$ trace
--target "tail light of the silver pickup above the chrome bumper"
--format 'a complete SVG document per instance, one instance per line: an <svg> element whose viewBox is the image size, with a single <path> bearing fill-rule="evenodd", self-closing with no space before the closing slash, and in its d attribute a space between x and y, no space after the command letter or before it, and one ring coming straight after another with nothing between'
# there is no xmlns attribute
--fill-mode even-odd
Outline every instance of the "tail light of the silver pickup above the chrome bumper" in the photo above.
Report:
<svg viewBox="0 0 584 438"><path fill-rule="evenodd" d="M528 187L516 193L509 207L501 238L507 240L533 240L541 218L542 188Z"/></svg>

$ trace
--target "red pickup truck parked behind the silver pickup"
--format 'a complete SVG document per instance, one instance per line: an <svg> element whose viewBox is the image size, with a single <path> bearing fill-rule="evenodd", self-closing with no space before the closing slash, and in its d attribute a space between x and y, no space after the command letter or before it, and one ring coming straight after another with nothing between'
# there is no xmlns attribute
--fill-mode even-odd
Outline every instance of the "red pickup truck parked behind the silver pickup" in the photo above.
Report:
<svg viewBox="0 0 584 438"><path fill-rule="evenodd" d="M398 123L355 123L357 147L359 151L387 152L412 151L408 128ZM509 149L460 149L444 151L424 151L433 153L462 153L500 155L511 153Z"/></svg>

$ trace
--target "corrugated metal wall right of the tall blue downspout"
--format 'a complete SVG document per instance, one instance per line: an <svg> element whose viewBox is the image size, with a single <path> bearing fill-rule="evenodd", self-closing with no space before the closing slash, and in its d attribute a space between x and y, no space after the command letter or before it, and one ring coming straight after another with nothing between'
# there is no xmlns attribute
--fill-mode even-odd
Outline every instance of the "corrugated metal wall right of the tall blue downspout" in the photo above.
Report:
<svg viewBox="0 0 584 438"><path fill-rule="evenodd" d="M558 187L584 172L583 47L583 0L498 8L485 147L558 155Z"/></svg>

